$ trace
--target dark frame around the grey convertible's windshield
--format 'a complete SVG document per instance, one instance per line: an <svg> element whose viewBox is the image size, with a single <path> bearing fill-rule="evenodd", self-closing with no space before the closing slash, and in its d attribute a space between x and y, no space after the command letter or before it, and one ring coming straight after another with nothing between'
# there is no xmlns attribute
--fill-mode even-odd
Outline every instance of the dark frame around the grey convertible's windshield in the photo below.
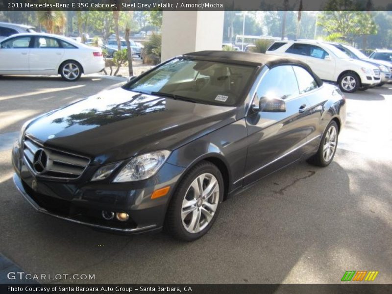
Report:
<svg viewBox="0 0 392 294"><path fill-rule="evenodd" d="M153 95L153 94L149 94L149 93L143 93L141 91L138 92L138 91L135 91L133 89L129 89L129 87L132 86L137 81L139 81L140 79L142 79L147 74L149 74L149 73L159 69L160 67L162 67L165 64L171 62L174 59L190 60L190 61L209 61L209 62L216 62L216 63L223 63L223 64L231 64L231 65L240 65L240 66L251 66L251 67L253 67L253 71L250 74L250 78L245 83L244 89L243 89L242 93L239 95L240 98L238 99L238 101L235 104L224 105L224 104L219 103L219 102L214 103L214 102L210 102L209 101L208 103L206 103L205 101L201 101L201 100L200 101L195 101L195 103L197 103L197 104L214 105L214 106L222 106L222 107L238 107L238 106L244 105L245 99L249 95L249 92L250 92L254 82L257 79L257 76L258 76L258 73L259 73L260 69L264 67L264 65L259 65L257 63L242 62L242 61L238 61L238 60L229 60L229 59L221 59L221 58L208 58L208 57L202 57L202 56L176 56L176 57L173 57L173 58L171 58L171 59L169 59L169 60L167 60L167 61L165 61L163 63L160 63L157 66L153 67L152 69L149 69L148 71L138 75L134 79L132 79L129 82L127 82L126 84L124 84L121 88L123 88L126 91L130 91L130 92L146 94L146 95ZM168 94L172 94L172 93L168 93ZM165 97L165 98L176 100L176 98L170 98L170 97ZM189 99L193 100L193 98L189 98ZM181 99L178 98L178 100L181 100Z"/></svg>

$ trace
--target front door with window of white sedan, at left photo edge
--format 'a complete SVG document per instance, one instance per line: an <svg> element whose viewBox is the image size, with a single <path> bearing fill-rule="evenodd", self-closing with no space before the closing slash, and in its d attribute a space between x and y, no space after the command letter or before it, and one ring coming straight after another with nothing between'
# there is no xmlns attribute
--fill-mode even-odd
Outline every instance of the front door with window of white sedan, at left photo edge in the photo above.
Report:
<svg viewBox="0 0 392 294"><path fill-rule="evenodd" d="M0 73L28 74L31 37L16 37L1 43Z"/></svg>

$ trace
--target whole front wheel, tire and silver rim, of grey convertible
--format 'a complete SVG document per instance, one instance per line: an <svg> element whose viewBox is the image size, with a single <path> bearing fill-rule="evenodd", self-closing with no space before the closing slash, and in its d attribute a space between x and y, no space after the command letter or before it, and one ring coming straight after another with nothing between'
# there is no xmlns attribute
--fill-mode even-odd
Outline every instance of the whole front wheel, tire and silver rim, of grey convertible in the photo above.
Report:
<svg viewBox="0 0 392 294"><path fill-rule="evenodd" d="M202 194L198 193L200 183ZM223 189L223 177L217 166L208 161L196 164L172 196L165 219L166 231L181 241L190 242L202 237L217 219Z"/></svg>

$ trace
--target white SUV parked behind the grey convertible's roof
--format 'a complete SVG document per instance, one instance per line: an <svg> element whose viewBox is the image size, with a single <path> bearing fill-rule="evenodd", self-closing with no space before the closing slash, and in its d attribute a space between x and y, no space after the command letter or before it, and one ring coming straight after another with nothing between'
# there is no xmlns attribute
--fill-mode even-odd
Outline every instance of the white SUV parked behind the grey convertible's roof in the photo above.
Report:
<svg viewBox="0 0 392 294"><path fill-rule="evenodd" d="M322 80L337 82L343 92L366 90L381 82L377 67L351 59L341 50L324 42L278 41L266 53L290 56L307 63Z"/></svg>

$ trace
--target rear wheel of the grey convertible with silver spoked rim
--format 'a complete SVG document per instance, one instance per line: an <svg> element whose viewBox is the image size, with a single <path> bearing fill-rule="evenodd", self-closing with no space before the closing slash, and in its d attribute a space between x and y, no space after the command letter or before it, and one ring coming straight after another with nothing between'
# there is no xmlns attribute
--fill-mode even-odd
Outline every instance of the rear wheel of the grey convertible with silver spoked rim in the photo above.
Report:
<svg viewBox="0 0 392 294"><path fill-rule="evenodd" d="M332 129L332 133L331 133ZM335 132L335 140L331 140L331 134ZM332 135L333 136L333 135ZM338 147L338 137L339 137L339 128L338 124L335 121L331 121L328 126L325 128L324 134L321 137L320 146L317 150L317 153L308 159L310 164L319 167L328 166L332 160L334 159L336 148ZM334 146L332 145L334 143ZM324 148L327 147L329 149L329 155L325 154L328 151L324 151ZM333 148L333 149L332 149Z"/></svg>

